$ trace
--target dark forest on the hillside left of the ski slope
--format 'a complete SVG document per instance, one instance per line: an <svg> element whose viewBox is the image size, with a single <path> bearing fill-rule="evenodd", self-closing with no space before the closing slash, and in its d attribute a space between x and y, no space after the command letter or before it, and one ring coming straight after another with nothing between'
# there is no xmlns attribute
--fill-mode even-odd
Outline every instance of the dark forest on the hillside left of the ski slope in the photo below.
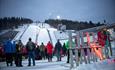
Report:
<svg viewBox="0 0 115 70"><path fill-rule="evenodd" d="M30 24L33 20L22 17L0 18L0 30L17 28L19 25Z"/></svg>

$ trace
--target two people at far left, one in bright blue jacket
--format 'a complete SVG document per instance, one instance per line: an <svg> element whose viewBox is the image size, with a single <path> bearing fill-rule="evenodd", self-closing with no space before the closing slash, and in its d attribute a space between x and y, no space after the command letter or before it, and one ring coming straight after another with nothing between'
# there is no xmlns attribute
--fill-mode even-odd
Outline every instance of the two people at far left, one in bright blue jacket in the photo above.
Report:
<svg viewBox="0 0 115 70"><path fill-rule="evenodd" d="M13 65L13 59L15 59L16 66L22 66L22 48L23 44L21 40L19 40L17 44L15 41L12 43L11 40L8 40L4 43L4 53L7 66L9 66L9 64L10 66Z"/></svg>

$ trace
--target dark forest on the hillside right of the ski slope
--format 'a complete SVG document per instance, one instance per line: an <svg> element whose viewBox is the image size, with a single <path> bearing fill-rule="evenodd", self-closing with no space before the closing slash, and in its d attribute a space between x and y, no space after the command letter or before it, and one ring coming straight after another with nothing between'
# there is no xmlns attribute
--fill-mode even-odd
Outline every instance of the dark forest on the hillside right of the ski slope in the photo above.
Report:
<svg viewBox="0 0 115 70"><path fill-rule="evenodd" d="M66 20L66 19L62 19L62 20L48 19L48 20L45 20L45 23L48 23L55 28L57 28L58 24L63 24L63 25L66 25L66 29L68 30L82 30L82 29L104 25L100 22L98 23L93 23L92 21L89 21L89 22L80 21L79 22L79 21L72 21L72 20Z"/></svg>

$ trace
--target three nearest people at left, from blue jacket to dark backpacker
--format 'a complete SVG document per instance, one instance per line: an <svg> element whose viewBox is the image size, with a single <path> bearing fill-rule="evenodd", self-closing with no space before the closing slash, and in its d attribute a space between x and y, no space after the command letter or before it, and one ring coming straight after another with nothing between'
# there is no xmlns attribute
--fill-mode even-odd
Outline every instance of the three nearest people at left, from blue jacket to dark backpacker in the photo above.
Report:
<svg viewBox="0 0 115 70"><path fill-rule="evenodd" d="M28 66L31 66L31 59L33 60L33 66L35 66L35 54L34 50L36 48L35 44L29 38L29 41L26 44L26 50L28 51ZM12 41L8 40L4 43L4 53L6 57L7 66L13 65L13 60L17 67L22 67L22 55L23 55L24 45L21 40Z"/></svg>

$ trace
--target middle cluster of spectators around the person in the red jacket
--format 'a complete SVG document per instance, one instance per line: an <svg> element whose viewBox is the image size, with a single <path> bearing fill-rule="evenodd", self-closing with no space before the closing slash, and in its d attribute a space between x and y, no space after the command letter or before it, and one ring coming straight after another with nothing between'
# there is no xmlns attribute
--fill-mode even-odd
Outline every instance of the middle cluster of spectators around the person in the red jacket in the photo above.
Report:
<svg viewBox="0 0 115 70"><path fill-rule="evenodd" d="M65 43L62 46L59 40L57 40L55 46L49 41L46 46L43 43L40 46L37 45L36 52L36 55L40 56L41 59L47 58L48 62L52 61L53 55L57 57L57 61L61 61L62 55L67 55L67 48Z"/></svg>

